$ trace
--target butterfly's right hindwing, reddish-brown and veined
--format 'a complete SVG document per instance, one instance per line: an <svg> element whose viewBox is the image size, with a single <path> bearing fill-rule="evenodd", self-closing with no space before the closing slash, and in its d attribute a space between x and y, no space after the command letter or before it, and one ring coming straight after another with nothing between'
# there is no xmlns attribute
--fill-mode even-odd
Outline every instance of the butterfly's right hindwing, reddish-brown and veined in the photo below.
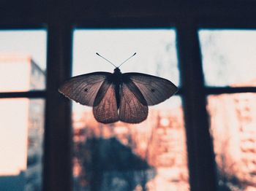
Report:
<svg viewBox="0 0 256 191"><path fill-rule="evenodd" d="M120 91L119 119L129 123L146 120L148 106L138 87L128 80L121 85Z"/></svg>

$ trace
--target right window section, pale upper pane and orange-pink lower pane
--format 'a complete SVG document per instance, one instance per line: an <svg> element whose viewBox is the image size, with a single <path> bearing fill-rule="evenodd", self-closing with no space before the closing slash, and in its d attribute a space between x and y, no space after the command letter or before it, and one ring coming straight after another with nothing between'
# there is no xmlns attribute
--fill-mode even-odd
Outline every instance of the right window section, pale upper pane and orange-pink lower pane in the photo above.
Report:
<svg viewBox="0 0 256 191"><path fill-rule="evenodd" d="M203 71L211 87L255 87L256 31L200 30ZM219 187L255 190L255 93L208 95Z"/></svg>

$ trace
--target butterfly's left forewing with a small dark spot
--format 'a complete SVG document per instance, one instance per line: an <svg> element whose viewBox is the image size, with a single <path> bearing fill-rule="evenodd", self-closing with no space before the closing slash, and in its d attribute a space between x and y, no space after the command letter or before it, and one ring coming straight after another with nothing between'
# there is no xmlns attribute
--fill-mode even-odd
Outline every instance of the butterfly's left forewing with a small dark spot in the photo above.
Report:
<svg viewBox="0 0 256 191"><path fill-rule="evenodd" d="M93 72L72 77L61 85L59 92L82 105L93 106L99 87L110 75L109 72Z"/></svg>

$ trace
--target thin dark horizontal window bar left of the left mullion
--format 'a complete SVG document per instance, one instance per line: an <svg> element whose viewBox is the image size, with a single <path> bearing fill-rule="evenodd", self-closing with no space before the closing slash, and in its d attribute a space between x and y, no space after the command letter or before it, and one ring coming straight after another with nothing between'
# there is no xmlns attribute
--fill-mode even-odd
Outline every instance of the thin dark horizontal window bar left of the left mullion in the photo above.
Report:
<svg viewBox="0 0 256 191"><path fill-rule="evenodd" d="M46 91L29 91L29 92L4 92L0 93L0 98L45 98Z"/></svg>

